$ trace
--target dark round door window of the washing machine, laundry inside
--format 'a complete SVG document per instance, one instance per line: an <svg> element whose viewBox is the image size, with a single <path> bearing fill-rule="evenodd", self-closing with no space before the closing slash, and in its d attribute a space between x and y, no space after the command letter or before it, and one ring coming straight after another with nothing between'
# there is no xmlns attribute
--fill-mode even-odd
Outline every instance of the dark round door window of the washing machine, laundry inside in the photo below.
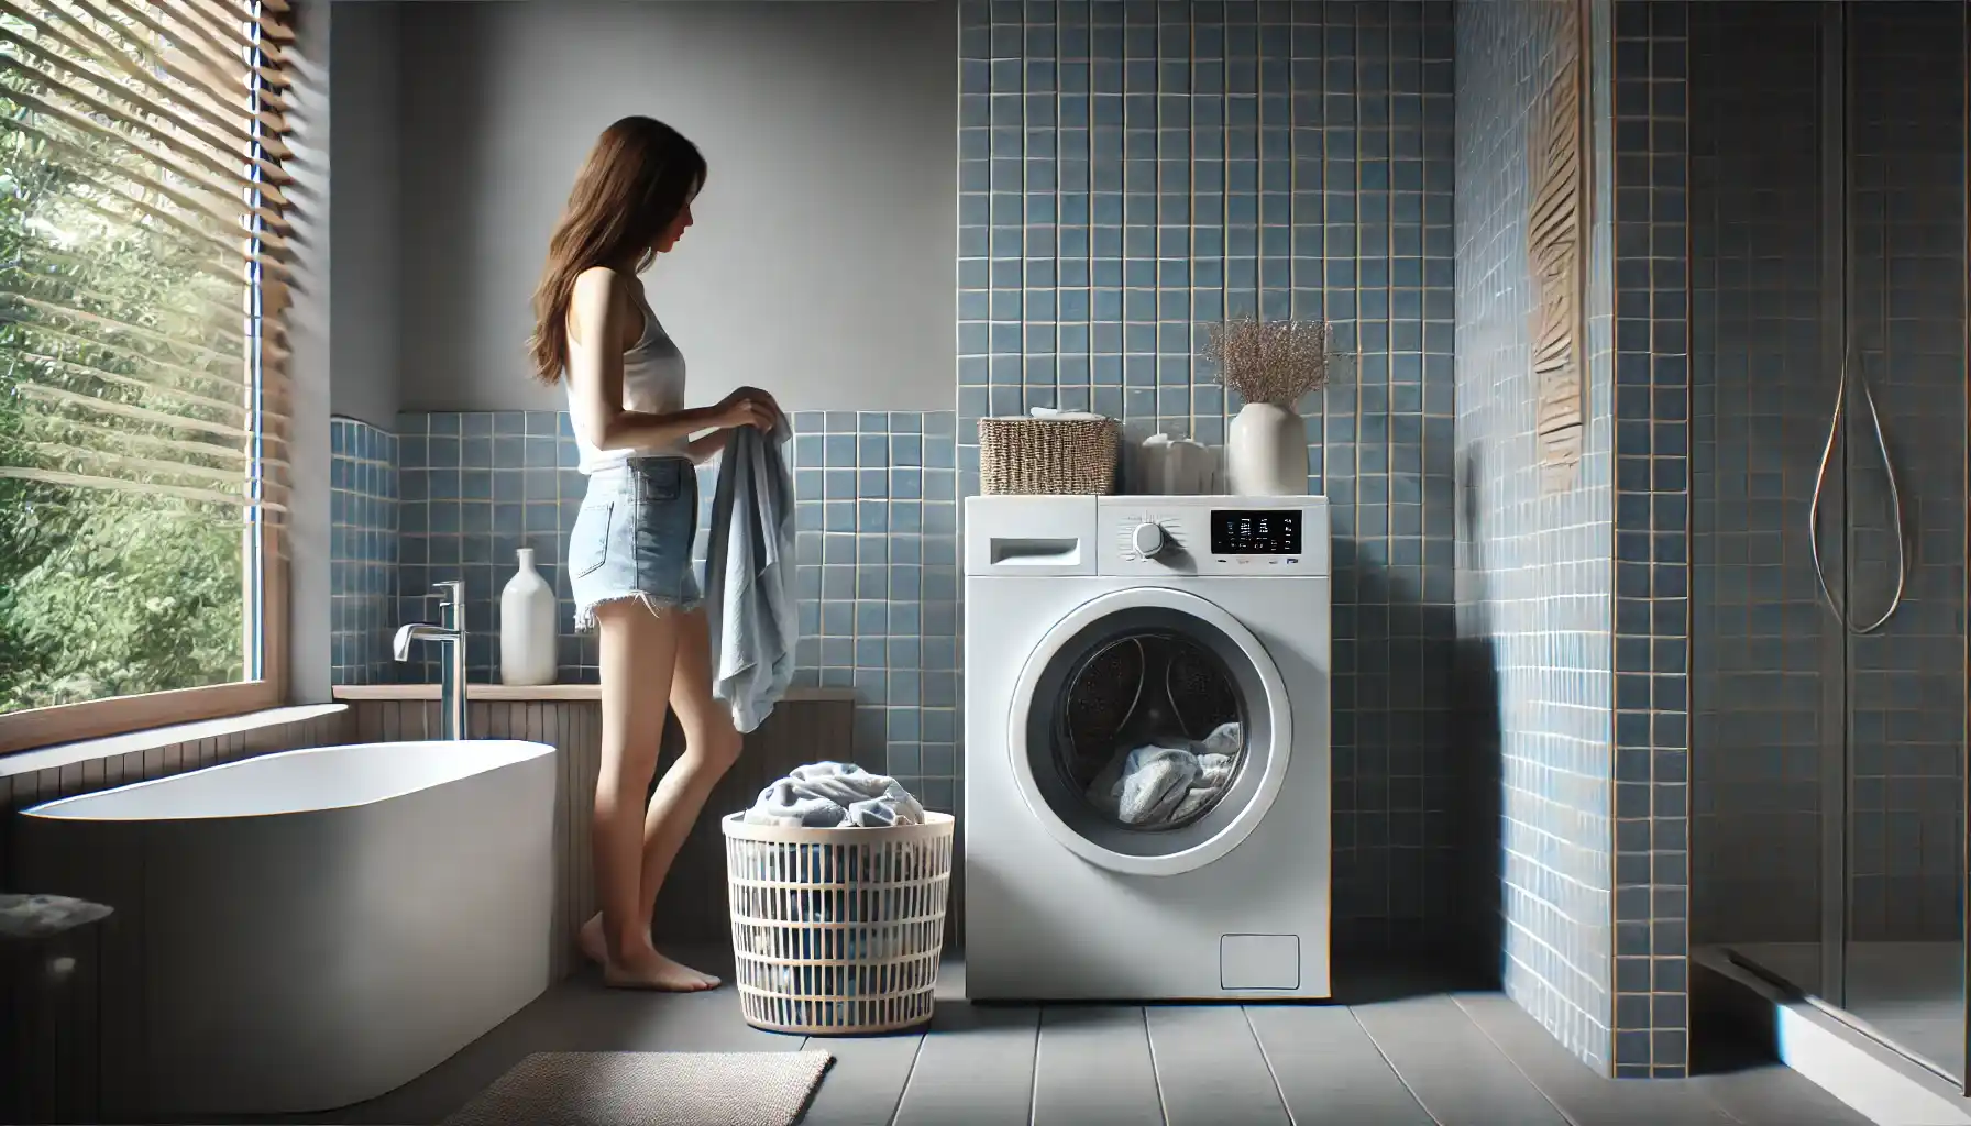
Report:
<svg viewBox="0 0 1971 1126"><path fill-rule="evenodd" d="M1106 818L1179 828L1232 789L1246 759L1242 716L1216 653L1181 633L1137 631L1098 647L1066 678L1054 761Z"/></svg>

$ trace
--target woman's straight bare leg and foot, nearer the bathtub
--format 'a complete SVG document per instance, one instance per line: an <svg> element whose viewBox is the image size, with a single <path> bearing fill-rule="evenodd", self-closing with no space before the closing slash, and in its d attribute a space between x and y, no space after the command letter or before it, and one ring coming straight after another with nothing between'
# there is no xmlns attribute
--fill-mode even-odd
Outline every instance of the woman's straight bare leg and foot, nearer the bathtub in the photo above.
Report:
<svg viewBox="0 0 1971 1126"><path fill-rule="evenodd" d="M637 601L595 609L601 627L603 761L595 779L595 891L603 980L611 986L702 990L708 982L656 952L643 907L643 795L664 736L664 696L678 659L682 615ZM585 927L587 929L587 927Z"/></svg>

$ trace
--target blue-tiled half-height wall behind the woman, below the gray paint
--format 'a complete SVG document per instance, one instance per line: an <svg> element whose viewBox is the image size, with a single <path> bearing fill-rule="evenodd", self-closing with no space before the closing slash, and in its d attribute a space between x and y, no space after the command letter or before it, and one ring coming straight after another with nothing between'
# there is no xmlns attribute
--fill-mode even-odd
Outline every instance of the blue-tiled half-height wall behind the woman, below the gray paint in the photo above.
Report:
<svg viewBox="0 0 1971 1126"><path fill-rule="evenodd" d="M593 682L595 639L574 633L562 552L587 485L562 412L404 414L402 599L430 613L434 582L463 578L467 674L493 680L499 590L514 550L560 594L560 678ZM853 688L855 755L934 809L958 779L958 469L952 412L800 412L790 444L800 613L796 684ZM702 465L704 566L717 465ZM406 676L436 678L424 659Z"/></svg>

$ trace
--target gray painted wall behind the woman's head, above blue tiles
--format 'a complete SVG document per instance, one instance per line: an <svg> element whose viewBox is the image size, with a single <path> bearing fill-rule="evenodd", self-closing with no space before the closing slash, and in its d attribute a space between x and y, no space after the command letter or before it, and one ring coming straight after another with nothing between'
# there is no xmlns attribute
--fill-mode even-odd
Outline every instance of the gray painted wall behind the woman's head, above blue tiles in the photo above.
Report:
<svg viewBox="0 0 1971 1126"><path fill-rule="evenodd" d="M528 298L581 156L631 112L712 166L698 225L646 274L694 400L751 383L802 410L952 406L950 0L398 16L404 408L562 404L528 379Z"/></svg>

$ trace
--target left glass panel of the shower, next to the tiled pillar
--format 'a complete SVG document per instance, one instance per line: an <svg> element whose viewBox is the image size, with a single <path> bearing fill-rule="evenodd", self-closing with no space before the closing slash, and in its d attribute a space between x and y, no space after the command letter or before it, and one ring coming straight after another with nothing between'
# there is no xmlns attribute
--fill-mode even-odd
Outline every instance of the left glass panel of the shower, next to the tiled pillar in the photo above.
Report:
<svg viewBox="0 0 1971 1126"><path fill-rule="evenodd" d="M1847 669L1809 534L1841 325L1827 37L1817 4L1691 6L1693 943L1815 996L1845 954Z"/></svg>

